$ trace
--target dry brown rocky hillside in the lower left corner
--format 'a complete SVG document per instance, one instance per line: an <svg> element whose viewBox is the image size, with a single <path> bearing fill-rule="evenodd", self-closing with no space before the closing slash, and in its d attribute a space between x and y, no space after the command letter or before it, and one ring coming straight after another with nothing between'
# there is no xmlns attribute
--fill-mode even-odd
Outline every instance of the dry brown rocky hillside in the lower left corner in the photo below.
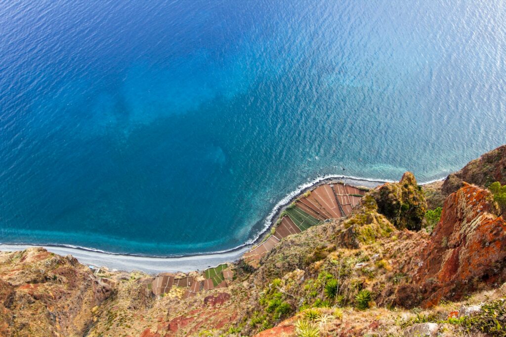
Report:
<svg viewBox="0 0 506 337"><path fill-rule="evenodd" d="M0 335L76 336L110 287L71 256L43 248L0 253Z"/></svg>

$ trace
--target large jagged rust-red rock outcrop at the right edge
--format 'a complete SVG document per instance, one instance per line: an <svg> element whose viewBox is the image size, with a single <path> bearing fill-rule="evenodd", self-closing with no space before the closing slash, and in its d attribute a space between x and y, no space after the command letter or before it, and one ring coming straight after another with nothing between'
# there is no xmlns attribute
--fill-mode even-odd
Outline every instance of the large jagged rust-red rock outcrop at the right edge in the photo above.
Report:
<svg viewBox="0 0 506 337"><path fill-rule="evenodd" d="M506 222L498 214L480 187L464 183L448 196L429 242L413 259L413 284L398 290L399 304L430 307L506 280Z"/></svg>

